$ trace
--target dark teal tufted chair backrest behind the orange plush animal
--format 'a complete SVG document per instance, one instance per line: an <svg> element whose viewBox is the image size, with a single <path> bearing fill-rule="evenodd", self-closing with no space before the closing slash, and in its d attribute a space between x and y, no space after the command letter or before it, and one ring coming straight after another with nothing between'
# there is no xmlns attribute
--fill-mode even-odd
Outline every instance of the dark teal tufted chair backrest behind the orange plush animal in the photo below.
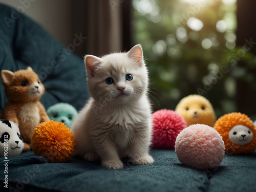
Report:
<svg viewBox="0 0 256 192"><path fill-rule="evenodd" d="M0 70L32 67L46 88L40 99L46 109L57 102L68 102L77 110L82 107L88 92L81 57L67 50L31 19L2 4L0 37ZM7 103L2 82L0 93L2 112Z"/></svg>

